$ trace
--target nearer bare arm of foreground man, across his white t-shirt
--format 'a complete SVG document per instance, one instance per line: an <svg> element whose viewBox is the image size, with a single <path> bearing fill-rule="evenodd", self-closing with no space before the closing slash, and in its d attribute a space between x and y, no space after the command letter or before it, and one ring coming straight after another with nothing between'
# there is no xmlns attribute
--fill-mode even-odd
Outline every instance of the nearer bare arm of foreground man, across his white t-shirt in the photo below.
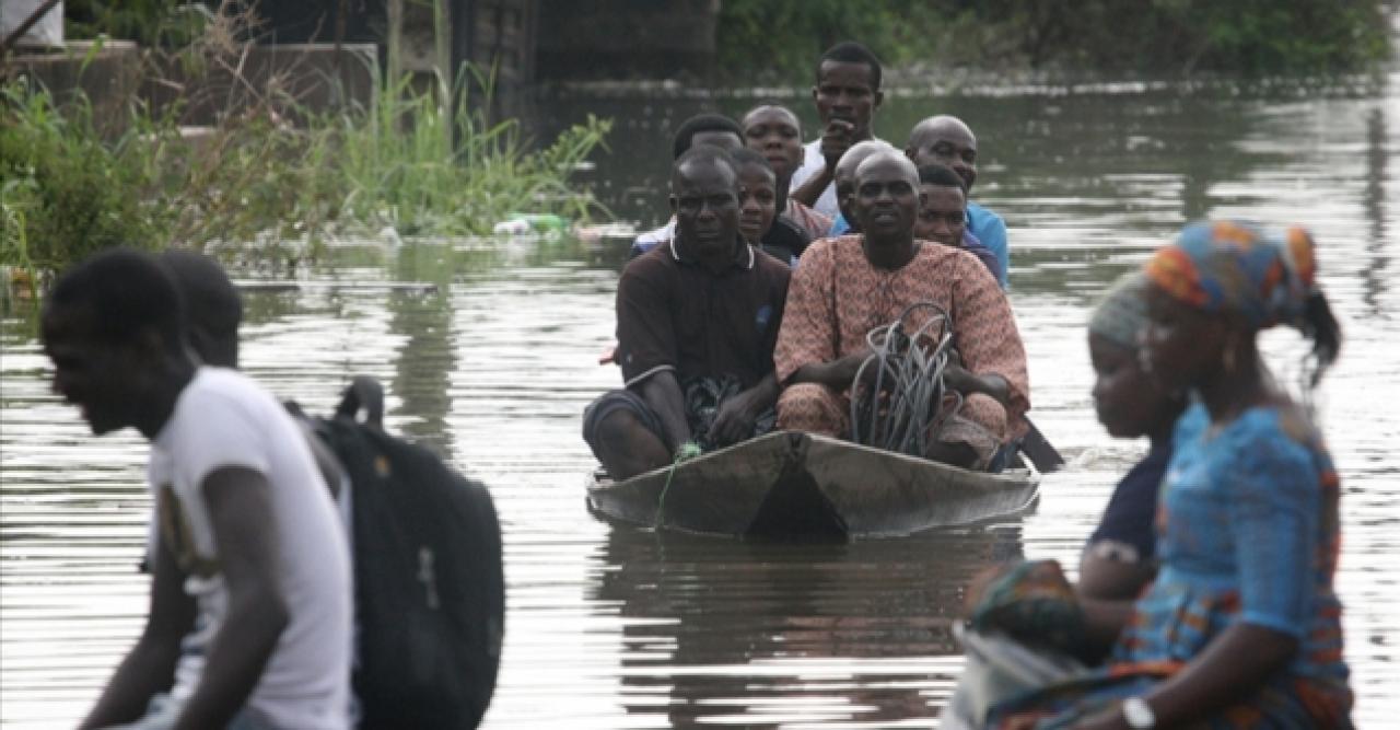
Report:
<svg viewBox="0 0 1400 730"><path fill-rule="evenodd" d="M178 730L228 724L258 685L288 622L267 479L253 469L225 467L200 486L228 588L228 612Z"/></svg>

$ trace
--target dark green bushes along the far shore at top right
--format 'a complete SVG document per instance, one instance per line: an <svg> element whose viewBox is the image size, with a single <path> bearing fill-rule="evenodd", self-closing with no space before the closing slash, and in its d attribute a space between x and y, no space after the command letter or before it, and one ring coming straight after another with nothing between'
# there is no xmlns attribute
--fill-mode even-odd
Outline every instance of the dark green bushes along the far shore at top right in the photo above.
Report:
<svg viewBox="0 0 1400 730"><path fill-rule="evenodd" d="M812 59L857 39L890 66L1345 73L1389 56L1385 13L1380 0L727 0L718 66L809 83Z"/></svg>

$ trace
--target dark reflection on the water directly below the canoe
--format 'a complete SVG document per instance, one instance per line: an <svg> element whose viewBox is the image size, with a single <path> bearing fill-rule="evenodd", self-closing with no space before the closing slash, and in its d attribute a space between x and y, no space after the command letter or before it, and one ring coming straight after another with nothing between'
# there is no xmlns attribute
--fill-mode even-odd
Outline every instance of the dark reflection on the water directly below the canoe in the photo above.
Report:
<svg viewBox="0 0 1400 730"><path fill-rule="evenodd" d="M920 660L956 653L962 586L1021 551L1019 518L834 545L615 527L585 591L622 619L641 724L881 723L937 715Z"/></svg>

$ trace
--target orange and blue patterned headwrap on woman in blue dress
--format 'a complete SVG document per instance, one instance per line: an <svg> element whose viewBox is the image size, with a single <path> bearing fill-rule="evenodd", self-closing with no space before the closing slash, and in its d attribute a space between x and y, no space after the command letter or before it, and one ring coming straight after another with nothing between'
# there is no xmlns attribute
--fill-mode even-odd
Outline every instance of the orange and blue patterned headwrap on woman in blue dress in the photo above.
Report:
<svg viewBox="0 0 1400 730"><path fill-rule="evenodd" d="M1182 228L1147 263L1148 279L1208 312L1231 312L1256 329L1301 325L1317 273L1312 235L1253 223L1205 221Z"/></svg>

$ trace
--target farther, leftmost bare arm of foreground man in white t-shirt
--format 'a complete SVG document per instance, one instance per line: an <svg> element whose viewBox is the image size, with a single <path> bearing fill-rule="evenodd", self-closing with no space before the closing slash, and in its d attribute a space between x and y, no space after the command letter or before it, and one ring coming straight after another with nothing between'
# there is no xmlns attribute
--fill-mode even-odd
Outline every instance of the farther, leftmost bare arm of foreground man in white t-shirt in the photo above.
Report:
<svg viewBox="0 0 1400 730"><path fill-rule="evenodd" d="M151 696L175 684L181 640L195 626L195 601L185 594L183 581L175 556L158 542L146 629L80 729L134 722L146 713Z"/></svg>

